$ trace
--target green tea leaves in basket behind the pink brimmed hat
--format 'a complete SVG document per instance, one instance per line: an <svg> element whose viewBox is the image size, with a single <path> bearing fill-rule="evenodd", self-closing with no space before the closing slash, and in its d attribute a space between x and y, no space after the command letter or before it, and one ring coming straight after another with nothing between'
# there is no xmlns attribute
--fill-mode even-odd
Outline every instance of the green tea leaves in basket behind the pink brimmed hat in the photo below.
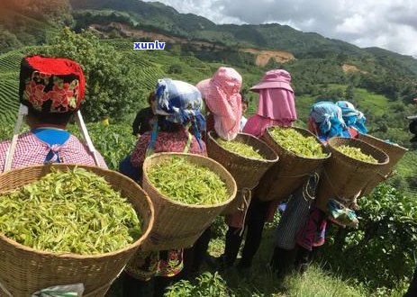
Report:
<svg viewBox="0 0 417 297"><path fill-rule="evenodd" d="M295 129L274 127L269 130L269 133L276 143L297 156L319 158L328 155L315 137L305 137Z"/></svg>

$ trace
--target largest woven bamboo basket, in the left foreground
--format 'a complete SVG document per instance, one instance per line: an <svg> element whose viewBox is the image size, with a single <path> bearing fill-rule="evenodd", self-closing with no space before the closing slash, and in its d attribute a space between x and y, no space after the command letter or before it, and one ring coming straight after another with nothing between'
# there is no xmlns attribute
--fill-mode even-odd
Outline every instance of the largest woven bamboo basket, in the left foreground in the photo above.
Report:
<svg viewBox="0 0 417 297"><path fill-rule="evenodd" d="M121 191L140 214L143 234L131 245L120 250L94 256L53 254L25 247L0 234L0 296L28 297L41 289L62 284L84 284L85 296L101 297L109 289L136 249L150 234L154 220L152 202L141 187L115 171L95 166L52 165L59 170L75 166L101 175ZM38 180L50 173L51 166L28 166L0 175L0 193ZM97 197L99 199L99 197ZM1 286L0 286L1 287ZM5 291L6 290L6 291Z"/></svg>

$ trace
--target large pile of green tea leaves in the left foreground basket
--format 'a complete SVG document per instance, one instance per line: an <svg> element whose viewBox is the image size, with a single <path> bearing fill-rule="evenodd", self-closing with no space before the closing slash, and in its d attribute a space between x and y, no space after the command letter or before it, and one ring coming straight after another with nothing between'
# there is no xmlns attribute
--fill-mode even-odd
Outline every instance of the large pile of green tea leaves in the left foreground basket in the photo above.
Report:
<svg viewBox="0 0 417 297"><path fill-rule="evenodd" d="M37 250L95 255L134 242L141 223L104 177L76 167L3 193L0 233Z"/></svg>

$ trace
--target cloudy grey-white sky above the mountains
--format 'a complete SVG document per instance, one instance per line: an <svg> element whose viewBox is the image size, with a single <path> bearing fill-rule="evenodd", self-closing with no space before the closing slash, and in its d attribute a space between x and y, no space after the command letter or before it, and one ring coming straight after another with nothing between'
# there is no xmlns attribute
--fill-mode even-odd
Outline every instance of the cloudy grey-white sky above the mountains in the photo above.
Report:
<svg viewBox="0 0 417 297"><path fill-rule="evenodd" d="M145 0L149 2L150 0ZM159 0L213 23L280 23L417 58L416 0Z"/></svg>

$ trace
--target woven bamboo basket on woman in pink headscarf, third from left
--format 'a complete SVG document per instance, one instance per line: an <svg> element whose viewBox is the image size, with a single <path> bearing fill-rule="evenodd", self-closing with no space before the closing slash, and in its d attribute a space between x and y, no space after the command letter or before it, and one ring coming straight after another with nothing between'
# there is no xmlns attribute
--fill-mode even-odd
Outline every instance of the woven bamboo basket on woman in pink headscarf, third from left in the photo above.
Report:
<svg viewBox="0 0 417 297"><path fill-rule="evenodd" d="M235 154L230 150L222 148L216 141L217 138L214 131L208 133L208 156L222 164L231 173L238 186L238 193L235 199L222 211L222 214L244 211L247 204L245 199L249 199L248 191L253 189L262 175L267 172L267 169L278 161L278 156L265 142L246 133L239 133L234 141L240 141L255 148L265 159L260 160Z"/></svg>

